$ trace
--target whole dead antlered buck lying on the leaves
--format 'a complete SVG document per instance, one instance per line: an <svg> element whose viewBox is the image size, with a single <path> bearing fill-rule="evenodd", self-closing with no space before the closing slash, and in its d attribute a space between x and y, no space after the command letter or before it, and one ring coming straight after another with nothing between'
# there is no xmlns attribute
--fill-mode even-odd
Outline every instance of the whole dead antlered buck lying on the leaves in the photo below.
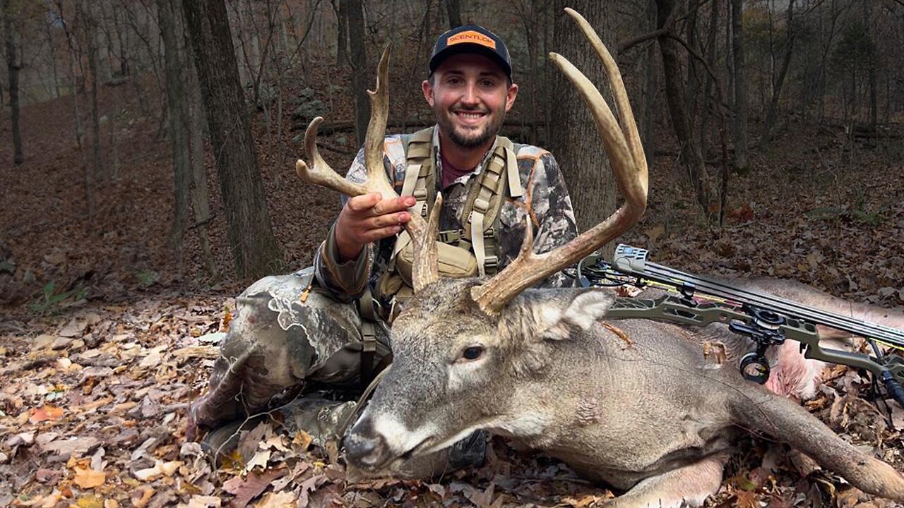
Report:
<svg viewBox="0 0 904 508"><path fill-rule="evenodd" d="M645 212L647 166L617 64L590 24L566 9L598 54L621 117L558 53L550 59L587 104L609 156L621 207L570 243L532 252L526 228L517 259L492 278L439 278L439 206L406 225L415 294L391 325L393 362L343 440L350 470L392 475L406 464L489 429L559 458L623 493L611 507L701 505L745 432L785 442L862 491L904 502L904 476L862 453L799 404L705 362L676 325L605 321L615 295L599 288L533 288L631 228ZM306 131L308 183L346 195L394 193L382 166L389 48L369 91L364 144L368 182L336 174ZM437 198L438 202L441 196ZM457 316L449 319L449 316Z"/></svg>

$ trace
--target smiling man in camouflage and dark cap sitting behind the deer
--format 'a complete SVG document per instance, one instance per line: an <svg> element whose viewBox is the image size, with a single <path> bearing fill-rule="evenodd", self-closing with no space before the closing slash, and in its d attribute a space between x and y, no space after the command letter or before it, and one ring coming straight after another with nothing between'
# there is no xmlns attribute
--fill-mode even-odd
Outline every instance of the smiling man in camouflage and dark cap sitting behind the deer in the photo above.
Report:
<svg viewBox="0 0 904 508"><path fill-rule="evenodd" d="M476 25L450 30L439 37L429 71L421 88L437 126L387 136L384 144L383 164L401 197L344 198L314 267L263 278L237 298L209 389L190 409L190 438L196 426L216 428L275 410L287 428L304 428L318 445L341 437L340 422L352 418L353 402L314 392L357 389L386 363L387 324L411 294L403 225L437 192L444 197L440 273L449 277L504 268L517 257L525 217L536 252L576 236L552 155L497 136L518 93L504 42ZM365 174L362 151L346 178L360 182ZM570 279L556 274L546 284ZM300 390L306 395L297 398ZM222 450L243 421L205 441Z"/></svg>

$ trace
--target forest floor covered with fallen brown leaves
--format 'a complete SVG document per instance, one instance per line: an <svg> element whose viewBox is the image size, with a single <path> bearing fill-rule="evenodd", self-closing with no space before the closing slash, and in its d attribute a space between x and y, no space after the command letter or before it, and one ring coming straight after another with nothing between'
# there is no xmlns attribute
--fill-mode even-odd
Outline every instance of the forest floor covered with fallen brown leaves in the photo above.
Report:
<svg viewBox="0 0 904 508"><path fill-rule="evenodd" d="M310 447L309 437L274 434L270 424L246 438L247 460L212 467L184 440L185 408L216 357L212 334L228 326L232 298L249 281L230 275L210 161L218 274L204 274L193 230L178 269L167 244L174 202L168 145L155 115L144 110L159 114L159 103L141 104L128 85L104 89L103 98L124 111L103 126L107 176L94 185L90 216L90 150L74 135L71 98L24 109L24 165L9 164L12 146L0 145L0 505L585 507L612 496L558 461L500 438L484 467L437 483L347 484L343 466ZM262 125L259 115L274 230L289 266L301 268L338 212L338 198L301 183L292 169L300 146L271 148L260 141L267 139ZM897 130L889 135L904 132L890 128ZM287 140L297 134L286 132ZM10 138L7 119L0 137ZM337 148L325 151L334 167L350 161L349 137L326 139ZM676 151L665 126L657 143L663 153ZM841 127L787 126L768 150L754 151L749 174L732 176L721 230L702 225L674 157L651 156L649 211L623 240L651 249L658 263L695 273L794 278L854 301L900 307L902 155L899 138L852 140ZM825 378L807 408L904 470L900 409L886 414L871 404L870 383L859 372L832 369ZM710 504L890 505L814 470L787 447L754 438L740 443Z"/></svg>

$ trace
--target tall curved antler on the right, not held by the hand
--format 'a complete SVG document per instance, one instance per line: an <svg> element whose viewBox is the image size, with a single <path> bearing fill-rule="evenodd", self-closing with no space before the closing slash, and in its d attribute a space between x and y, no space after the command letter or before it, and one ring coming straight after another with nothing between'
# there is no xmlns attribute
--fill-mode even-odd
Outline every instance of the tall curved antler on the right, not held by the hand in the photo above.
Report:
<svg viewBox="0 0 904 508"><path fill-rule="evenodd" d="M624 132L618 126L606 100L581 71L560 54L550 53L550 59L565 73L590 108L599 135L603 138L603 146L606 147L618 188L625 195L625 203L605 221L584 231L578 238L558 249L539 255L532 252L533 231L528 219L518 258L494 278L471 288L471 297L485 313L490 315L497 315L510 300L527 287L549 277L561 268L570 266L630 229L640 220L646 208L647 175L644 147L637 134L634 114L627 100L621 73L612 55L587 20L570 8L566 8L565 12L577 22L581 32L603 62L612 95L616 99L618 111L625 124Z"/></svg>

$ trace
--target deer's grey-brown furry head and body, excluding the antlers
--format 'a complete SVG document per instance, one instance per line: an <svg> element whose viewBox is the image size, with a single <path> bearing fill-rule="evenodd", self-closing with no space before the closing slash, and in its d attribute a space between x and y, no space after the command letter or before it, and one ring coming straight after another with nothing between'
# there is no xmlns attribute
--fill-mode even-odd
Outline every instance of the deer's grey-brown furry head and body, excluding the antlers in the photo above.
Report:
<svg viewBox="0 0 904 508"><path fill-rule="evenodd" d="M750 429L904 500L893 468L733 364L704 359L687 330L632 319L612 331L598 323L606 290L528 290L493 318L469 297L476 282L440 280L399 316L391 372L345 440L350 465L391 474L489 428L627 490L618 503L679 506L719 489L734 438ZM468 359L468 348L482 353Z"/></svg>

